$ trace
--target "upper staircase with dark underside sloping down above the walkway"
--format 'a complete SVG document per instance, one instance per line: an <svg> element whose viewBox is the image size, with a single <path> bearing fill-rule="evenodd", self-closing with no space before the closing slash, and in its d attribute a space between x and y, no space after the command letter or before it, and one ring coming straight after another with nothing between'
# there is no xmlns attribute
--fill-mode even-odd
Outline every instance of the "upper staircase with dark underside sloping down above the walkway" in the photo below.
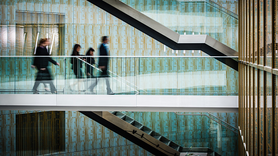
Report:
<svg viewBox="0 0 278 156"><path fill-rule="evenodd" d="M238 52L208 35L179 35L119 0L87 0L173 50L201 50L238 71Z"/></svg>

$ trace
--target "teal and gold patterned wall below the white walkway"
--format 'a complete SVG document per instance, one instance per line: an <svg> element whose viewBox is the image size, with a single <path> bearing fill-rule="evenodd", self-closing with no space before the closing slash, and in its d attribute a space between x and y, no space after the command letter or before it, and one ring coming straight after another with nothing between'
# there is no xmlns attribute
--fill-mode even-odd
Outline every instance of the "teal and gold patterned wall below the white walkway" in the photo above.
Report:
<svg viewBox="0 0 278 156"><path fill-rule="evenodd" d="M0 155L152 155L78 111L0 113ZM183 147L237 155L238 135L201 113L123 113ZM238 113L213 114L237 125Z"/></svg>

